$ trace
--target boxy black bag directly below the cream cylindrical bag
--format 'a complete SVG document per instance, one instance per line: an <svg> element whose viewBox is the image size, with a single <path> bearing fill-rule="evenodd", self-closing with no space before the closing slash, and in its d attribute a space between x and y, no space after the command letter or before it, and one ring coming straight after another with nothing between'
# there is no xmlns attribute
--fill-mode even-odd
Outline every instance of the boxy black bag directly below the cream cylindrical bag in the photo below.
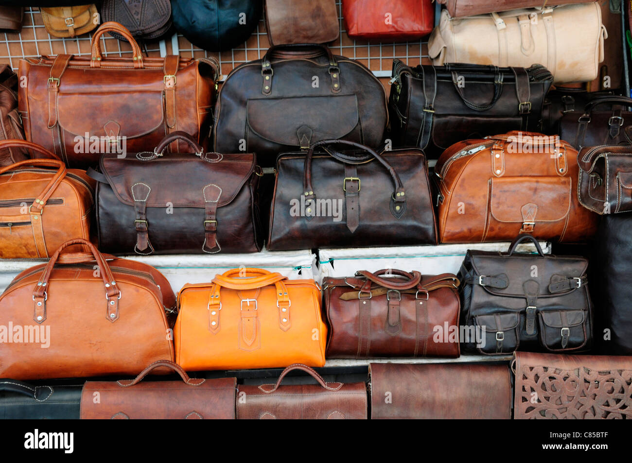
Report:
<svg viewBox="0 0 632 463"><path fill-rule="evenodd" d="M389 97L396 146L422 148L430 159L458 141L488 133L538 130L552 76L540 65L495 68L420 65L393 60Z"/></svg>

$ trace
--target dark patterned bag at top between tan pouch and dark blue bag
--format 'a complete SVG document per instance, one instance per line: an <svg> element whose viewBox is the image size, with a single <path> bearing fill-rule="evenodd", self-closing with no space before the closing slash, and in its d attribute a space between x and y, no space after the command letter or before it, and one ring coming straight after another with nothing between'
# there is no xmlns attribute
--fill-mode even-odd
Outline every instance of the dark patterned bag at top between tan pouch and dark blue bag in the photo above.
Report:
<svg viewBox="0 0 632 463"><path fill-rule="evenodd" d="M104 22L120 23L138 40L157 40L171 30L169 0L105 0L101 15ZM110 35L126 40L116 32L110 32Z"/></svg>

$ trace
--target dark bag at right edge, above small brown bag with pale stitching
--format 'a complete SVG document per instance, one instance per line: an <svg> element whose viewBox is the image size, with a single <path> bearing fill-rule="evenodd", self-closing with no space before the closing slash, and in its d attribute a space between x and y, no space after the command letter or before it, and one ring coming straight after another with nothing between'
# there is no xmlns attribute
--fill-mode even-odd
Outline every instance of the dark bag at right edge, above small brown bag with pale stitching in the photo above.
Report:
<svg viewBox="0 0 632 463"><path fill-rule="evenodd" d="M632 99L607 96L586 103L583 111L570 111L562 116L559 134L577 150L599 145L632 143L626 129L632 126ZM598 109L599 108L599 109Z"/></svg>

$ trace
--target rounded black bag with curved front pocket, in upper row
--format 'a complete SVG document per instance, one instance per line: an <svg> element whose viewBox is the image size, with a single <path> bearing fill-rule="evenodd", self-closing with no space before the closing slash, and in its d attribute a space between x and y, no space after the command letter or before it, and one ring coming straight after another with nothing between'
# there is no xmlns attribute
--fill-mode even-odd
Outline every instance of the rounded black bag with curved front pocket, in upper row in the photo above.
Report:
<svg viewBox="0 0 632 463"><path fill-rule="evenodd" d="M255 152L272 167L280 152L342 138L378 147L386 93L363 64L325 45L275 45L224 81L215 107L214 151Z"/></svg>

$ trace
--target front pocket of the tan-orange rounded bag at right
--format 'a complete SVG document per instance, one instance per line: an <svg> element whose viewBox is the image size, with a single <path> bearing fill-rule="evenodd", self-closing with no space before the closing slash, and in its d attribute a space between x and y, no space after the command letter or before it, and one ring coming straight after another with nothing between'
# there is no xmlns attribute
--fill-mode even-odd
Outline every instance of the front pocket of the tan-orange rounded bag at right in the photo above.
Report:
<svg viewBox="0 0 632 463"><path fill-rule="evenodd" d="M490 213L499 222L556 222L571 210L570 177L492 178Z"/></svg>

